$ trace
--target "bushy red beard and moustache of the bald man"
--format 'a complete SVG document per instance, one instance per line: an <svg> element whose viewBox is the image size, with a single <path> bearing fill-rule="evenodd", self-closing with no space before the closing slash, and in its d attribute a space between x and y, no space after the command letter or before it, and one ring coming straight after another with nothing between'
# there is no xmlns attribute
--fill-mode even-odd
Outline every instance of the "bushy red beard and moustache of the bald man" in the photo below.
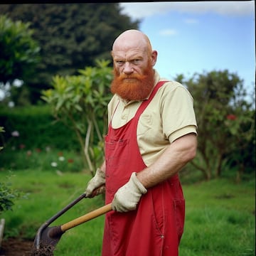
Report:
<svg viewBox="0 0 256 256"><path fill-rule="evenodd" d="M145 100L154 87L154 70L148 66L143 75L119 75L114 68L114 80L111 84L111 92L124 100Z"/></svg>

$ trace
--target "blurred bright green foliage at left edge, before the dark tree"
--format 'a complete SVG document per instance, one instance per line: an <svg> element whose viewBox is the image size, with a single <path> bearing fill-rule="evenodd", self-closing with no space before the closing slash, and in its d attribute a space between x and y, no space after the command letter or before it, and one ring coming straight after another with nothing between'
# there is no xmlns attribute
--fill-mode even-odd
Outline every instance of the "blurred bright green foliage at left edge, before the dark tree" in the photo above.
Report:
<svg viewBox="0 0 256 256"><path fill-rule="evenodd" d="M0 82L26 80L39 61L38 43L33 40L30 23L0 16Z"/></svg>

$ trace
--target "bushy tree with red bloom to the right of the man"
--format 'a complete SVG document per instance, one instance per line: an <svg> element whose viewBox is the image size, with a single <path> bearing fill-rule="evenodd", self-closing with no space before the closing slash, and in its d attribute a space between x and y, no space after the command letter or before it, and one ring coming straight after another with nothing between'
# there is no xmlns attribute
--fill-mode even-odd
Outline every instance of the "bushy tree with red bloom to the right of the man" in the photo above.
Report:
<svg viewBox="0 0 256 256"><path fill-rule="evenodd" d="M255 109L246 100L243 81L228 70L196 73L186 80L178 75L176 80L186 85L194 98L198 156L193 166L206 179L221 176L231 162L242 174L247 165L243 151L255 146ZM252 151L249 154L255 163L255 155Z"/></svg>

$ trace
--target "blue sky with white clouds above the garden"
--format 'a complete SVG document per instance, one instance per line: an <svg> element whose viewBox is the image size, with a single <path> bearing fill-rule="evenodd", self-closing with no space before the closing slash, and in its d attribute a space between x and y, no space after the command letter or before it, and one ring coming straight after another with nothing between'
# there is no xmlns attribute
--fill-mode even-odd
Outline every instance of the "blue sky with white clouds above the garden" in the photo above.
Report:
<svg viewBox="0 0 256 256"><path fill-rule="evenodd" d="M157 50L155 68L164 78L225 70L255 90L255 1L169 1L120 3L142 20Z"/></svg>

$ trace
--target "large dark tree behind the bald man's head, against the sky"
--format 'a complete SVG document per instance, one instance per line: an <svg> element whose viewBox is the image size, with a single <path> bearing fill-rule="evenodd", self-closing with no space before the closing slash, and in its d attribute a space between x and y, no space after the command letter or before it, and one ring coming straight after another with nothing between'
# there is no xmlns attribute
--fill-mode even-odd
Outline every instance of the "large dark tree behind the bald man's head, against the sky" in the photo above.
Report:
<svg viewBox="0 0 256 256"><path fill-rule="evenodd" d="M118 3L1 4L0 14L31 23L42 48L37 75L27 81L33 103L50 87L53 76L77 75L97 59L111 61L114 38L139 24L120 11Z"/></svg>

